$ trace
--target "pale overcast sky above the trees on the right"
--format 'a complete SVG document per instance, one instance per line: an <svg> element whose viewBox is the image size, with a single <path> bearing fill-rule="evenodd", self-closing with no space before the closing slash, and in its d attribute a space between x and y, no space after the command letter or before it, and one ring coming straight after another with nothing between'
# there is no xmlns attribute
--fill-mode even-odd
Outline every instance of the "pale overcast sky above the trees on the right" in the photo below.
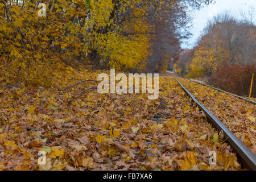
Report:
<svg viewBox="0 0 256 182"><path fill-rule="evenodd" d="M209 19L212 19L214 15L220 14L223 11L231 11L232 14L240 16L240 11L246 11L250 7L254 7L254 14L256 17L256 0L215 0L216 3L213 5L205 6L203 9L199 11L193 12L193 26L191 27L191 32L193 36L184 41L181 44L181 48L192 48L195 46L198 38L201 35L201 31L207 26L207 22Z"/></svg>

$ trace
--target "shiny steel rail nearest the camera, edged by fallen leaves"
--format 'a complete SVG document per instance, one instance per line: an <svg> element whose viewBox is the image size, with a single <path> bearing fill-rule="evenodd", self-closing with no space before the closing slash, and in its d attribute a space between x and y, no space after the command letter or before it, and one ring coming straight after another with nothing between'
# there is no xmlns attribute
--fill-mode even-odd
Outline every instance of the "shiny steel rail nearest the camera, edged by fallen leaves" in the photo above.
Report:
<svg viewBox="0 0 256 182"><path fill-rule="evenodd" d="M175 77L174 77L175 78ZM256 155L253 154L237 137L230 131L215 115L213 115L206 107L204 107L196 98L175 78L183 90L192 98L194 102L204 111L205 115L210 122L220 131L223 131L224 135L230 144L240 156L242 167L256 171Z"/></svg>

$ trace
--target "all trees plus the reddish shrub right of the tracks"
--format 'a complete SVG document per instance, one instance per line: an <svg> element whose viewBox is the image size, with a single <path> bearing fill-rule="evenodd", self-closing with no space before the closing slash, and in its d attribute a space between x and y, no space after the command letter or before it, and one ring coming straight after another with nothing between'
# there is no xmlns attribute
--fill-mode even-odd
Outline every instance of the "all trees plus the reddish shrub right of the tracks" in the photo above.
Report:
<svg viewBox="0 0 256 182"><path fill-rule="evenodd" d="M237 20L229 13L214 17L197 46L180 53L176 72L189 78L208 77L209 84L218 88L249 94L251 76L256 73L256 26L251 18Z"/></svg>

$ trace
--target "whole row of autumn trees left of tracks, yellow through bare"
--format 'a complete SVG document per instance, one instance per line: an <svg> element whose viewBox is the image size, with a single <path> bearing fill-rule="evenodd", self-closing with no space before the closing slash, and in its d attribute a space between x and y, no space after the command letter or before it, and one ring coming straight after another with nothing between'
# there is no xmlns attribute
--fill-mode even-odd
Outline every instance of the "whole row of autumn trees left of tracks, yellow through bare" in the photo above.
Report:
<svg viewBox="0 0 256 182"><path fill-rule="evenodd" d="M46 16L38 15L39 1L0 1L0 59L3 75L50 86L51 75L65 65L141 71L151 52L155 71L164 71L179 51L186 7L210 0L42 2Z"/></svg>

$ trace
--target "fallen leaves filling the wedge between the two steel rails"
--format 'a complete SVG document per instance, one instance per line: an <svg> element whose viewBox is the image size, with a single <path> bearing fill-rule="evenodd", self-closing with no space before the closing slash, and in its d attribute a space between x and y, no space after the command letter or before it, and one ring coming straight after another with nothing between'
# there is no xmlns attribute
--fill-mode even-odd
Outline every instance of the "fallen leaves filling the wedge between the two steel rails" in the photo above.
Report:
<svg viewBox="0 0 256 182"><path fill-rule="evenodd" d="M254 104L184 78L178 79L256 155L256 106Z"/></svg>

